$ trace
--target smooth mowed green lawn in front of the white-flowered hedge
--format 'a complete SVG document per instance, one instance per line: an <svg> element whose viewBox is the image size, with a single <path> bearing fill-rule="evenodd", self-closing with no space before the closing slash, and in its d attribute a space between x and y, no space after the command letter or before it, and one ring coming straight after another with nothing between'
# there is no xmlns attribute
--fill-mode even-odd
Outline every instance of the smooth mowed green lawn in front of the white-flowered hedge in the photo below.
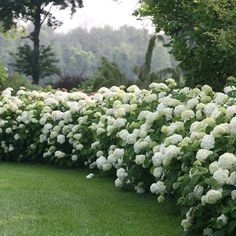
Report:
<svg viewBox="0 0 236 236"><path fill-rule="evenodd" d="M174 204L114 187L108 177L0 163L0 235L181 236Z"/></svg>

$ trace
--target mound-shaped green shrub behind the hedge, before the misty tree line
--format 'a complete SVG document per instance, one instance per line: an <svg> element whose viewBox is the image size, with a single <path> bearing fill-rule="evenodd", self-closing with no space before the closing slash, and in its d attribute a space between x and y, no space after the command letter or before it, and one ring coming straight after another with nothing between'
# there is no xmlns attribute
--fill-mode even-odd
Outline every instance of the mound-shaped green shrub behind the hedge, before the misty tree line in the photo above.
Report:
<svg viewBox="0 0 236 236"><path fill-rule="evenodd" d="M93 76L93 80L95 81L93 90L96 91L101 87L125 85L127 79L115 63L109 62L105 57L102 57L101 65Z"/></svg>

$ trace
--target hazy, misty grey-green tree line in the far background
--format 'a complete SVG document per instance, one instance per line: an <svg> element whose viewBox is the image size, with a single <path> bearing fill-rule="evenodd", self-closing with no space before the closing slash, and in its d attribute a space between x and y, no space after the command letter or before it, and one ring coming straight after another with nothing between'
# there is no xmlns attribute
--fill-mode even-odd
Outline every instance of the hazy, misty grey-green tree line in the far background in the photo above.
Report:
<svg viewBox="0 0 236 236"><path fill-rule="evenodd" d="M9 52L14 54L17 47L29 43L29 40L22 39L22 36L27 35L31 27L29 26L24 33L18 32L13 39L0 36L0 54L2 55L0 63L7 65L10 71L14 70L11 66L14 64L14 56ZM128 26L117 30L109 26L93 28L90 32L77 28L67 34L55 33L53 29L43 27L40 41L43 45L52 45L62 75L91 77L101 64L101 57L105 57L108 61L117 64L126 77L133 79L138 76L134 73L134 68L145 62L150 37L147 30ZM152 71L176 66L168 49L158 41L152 61ZM55 77L51 79L53 78Z"/></svg>

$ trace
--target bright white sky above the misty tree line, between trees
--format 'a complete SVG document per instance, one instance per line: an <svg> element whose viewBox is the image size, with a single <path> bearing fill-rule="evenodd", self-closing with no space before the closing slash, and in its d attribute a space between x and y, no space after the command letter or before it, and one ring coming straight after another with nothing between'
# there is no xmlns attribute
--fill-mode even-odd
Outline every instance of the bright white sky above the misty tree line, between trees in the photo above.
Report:
<svg viewBox="0 0 236 236"><path fill-rule="evenodd" d="M63 22L57 32L68 32L77 27L90 30L92 27L109 25L114 29L122 25L147 28L152 31L151 22L137 20L132 13L138 7L138 0L84 0L84 8L70 17L67 10L53 9L53 14Z"/></svg>

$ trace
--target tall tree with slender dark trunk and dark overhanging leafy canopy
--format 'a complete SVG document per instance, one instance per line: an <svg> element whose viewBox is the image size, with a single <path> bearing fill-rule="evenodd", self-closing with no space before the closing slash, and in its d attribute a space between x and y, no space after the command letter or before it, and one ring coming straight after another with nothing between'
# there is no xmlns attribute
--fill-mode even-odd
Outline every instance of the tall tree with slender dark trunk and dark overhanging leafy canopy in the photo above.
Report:
<svg viewBox="0 0 236 236"><path fill-rule="evenodd" d="M40 30L44 23L56 28L61 25L51 13L52 7L60 9L70 8L71 14L83 6L82 0L1 0L0 22L4 31L16 26L17 20L31 21L34 29L29 35L33 42L32 49L32 78L35 84L39 83L40 75Z"/></svg>

